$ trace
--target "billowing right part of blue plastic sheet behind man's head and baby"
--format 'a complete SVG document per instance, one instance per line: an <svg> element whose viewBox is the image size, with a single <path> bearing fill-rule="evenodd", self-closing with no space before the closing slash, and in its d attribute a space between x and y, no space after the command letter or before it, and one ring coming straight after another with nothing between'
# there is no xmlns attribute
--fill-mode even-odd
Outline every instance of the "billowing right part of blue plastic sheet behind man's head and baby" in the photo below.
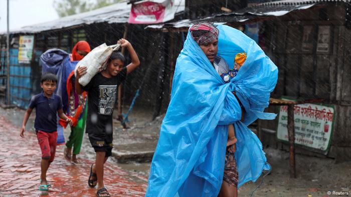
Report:
<svg viewBox="0 0 351 197"><path fill-rule="evenodd" d="M233 67L238 52L247 52L246 61L230 84L231 90L245 106L244 123L249 125L257 118L274 119L276 114L262 111L268 107L270 92L276 85L277 66L254 40L241 31L227 25L219 25L218 28L218 55L225 58L230 67Z"/></svg>

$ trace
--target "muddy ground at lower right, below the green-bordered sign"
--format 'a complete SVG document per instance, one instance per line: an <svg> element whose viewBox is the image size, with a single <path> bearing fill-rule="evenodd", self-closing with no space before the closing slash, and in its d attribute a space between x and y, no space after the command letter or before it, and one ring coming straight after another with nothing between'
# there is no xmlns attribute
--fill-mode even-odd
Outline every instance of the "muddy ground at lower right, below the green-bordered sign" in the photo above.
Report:
<svg viewBox="0 0 351 197"><path fill-rule="evenodd" d="M272 172L253 196L335 196L328 195L328 191L351 195L351 162L335 164L334 159L296 154L297 178L289 178L289 153L273 148L264 151ZM261 180L262 176L256 183L244 184L239 195L250 196Z"/></svg>

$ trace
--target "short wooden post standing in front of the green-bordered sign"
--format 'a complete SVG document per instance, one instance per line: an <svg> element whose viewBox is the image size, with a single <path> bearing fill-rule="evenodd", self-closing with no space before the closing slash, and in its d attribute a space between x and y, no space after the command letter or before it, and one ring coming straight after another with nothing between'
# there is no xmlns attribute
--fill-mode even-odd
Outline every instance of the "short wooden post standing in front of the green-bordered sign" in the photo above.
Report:
<svg viewBox="0 0 351 197"><path fill-rule="evenodd" d="M288 104L288 135L289 135L289 164L290 178L296 178L295 169L295 125L294 125L294 105Z"/></svg>

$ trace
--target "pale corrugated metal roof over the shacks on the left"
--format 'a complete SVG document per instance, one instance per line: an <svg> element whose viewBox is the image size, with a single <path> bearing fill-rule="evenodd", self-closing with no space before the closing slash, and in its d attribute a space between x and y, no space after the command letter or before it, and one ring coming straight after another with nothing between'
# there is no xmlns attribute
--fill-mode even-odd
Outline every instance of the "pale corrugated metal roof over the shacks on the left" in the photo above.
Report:
<svg viewBox="0 0 351 197"><path fill-rule="evenodd" d="M185 10L185 0L174 0L174 4L175 6L178 6L177 13ZM84 13L62 17L56 20L24 26L19 30L11 31L11 33L35 33L80 24L92 24L99 22L126 23L128 22L130 8L131 4L127 4L127 2L116 3Z"/></svg>

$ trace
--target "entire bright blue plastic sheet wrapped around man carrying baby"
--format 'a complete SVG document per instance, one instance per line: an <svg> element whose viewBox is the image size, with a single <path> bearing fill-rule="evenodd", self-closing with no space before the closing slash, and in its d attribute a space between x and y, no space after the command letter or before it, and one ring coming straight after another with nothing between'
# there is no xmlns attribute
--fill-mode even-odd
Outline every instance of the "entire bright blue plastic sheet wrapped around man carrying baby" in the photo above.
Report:
<svg viewBox="0 0 351 197"><path fill-rule="evenodd" d="M175 66L171 100L152 159L146 196L217 196L223 180L228 124L235 127L238 187L269 169L262 144L247 125L264 113L278 70L255 41L241 31L218 25L218 54L233 67L234 56L247 59L225 83L188 32ZM245 108L244 120L241 107Z"/></svg>

